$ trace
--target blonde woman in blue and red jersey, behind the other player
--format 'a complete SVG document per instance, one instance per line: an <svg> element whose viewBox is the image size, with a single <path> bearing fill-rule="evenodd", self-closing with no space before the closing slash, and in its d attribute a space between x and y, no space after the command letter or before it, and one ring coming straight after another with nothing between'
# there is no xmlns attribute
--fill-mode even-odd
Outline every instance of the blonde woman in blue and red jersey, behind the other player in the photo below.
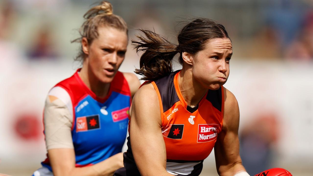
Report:
<svg viewBox="0 0 313 176"><path fill-rule="evenodd" d="M34 176L112 175L121 153L131 98L140 83L118 71L128 43L125 21L103 1L84 15L82 68L48 94L44 108L47 159Z"/></svg>

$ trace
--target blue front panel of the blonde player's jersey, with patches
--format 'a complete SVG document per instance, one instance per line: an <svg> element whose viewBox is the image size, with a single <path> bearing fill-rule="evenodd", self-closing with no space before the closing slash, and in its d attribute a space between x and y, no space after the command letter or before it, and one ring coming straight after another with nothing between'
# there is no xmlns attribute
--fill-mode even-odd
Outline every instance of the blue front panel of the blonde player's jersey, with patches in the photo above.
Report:
<svg viewBox="0 0 313 176"><path fill-rule="evenodd" d="M95 164L121 152L126 139L130 96L112 92L105 103L90 95L75 107L72 131L76 164Z"/></svg>

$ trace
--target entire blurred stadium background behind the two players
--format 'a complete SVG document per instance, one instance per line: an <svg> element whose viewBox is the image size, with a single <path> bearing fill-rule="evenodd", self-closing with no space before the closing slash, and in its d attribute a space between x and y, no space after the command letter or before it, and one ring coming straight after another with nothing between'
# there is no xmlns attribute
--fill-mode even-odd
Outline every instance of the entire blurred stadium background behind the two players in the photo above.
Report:
<svg viewBox="0 0 313 176"><path fill-rule="evenodd" d="M71 76L83 14L98 1L0 1L0 173L31 175L45 158L42 110L49 89ZM241 157L253 175L282 167L313 173L313 1L111 0L114 13L136 28L177 43L191 17L222 23L232 41L225 87L239 102ZM120 70L139 67L129 45ZM178 69L179 66L176 66ZM125 149L124 149L125 150ZM204 175L217 175L214 155Z"/></svg>

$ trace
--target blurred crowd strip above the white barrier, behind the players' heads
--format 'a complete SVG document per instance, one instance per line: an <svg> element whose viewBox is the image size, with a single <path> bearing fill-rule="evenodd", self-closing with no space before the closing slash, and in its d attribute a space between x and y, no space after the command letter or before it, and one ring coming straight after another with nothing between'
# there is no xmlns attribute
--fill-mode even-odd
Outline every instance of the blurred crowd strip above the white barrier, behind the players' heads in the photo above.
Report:
<svg viewBox="0 0 313 176"><path fill-rule="evenodd" d="M3 0L0 3L2 55L27 60L74 58L79 45L71 46L70 40L78 35L75 30L79 28L83 15L80 9L88 8L88 3L74 0ZM136 28L153 29L171 38L179 31L177 22L203 16L226 26L233 40L236 58L305 62L313 58L311 1L242 0L235 3L200 0L192 3L185 0L169 3L137 0L131 3L116 0L112 4L117 14L126 19L131 39L135 38ZM138 58L131 47L128 55L129 58Z"/></svg>

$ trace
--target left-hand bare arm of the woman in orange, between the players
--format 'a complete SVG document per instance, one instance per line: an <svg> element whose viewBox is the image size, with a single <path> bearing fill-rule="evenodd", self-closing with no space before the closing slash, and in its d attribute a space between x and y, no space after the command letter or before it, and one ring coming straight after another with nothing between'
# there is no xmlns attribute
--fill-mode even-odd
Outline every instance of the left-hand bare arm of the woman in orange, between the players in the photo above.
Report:
<svg viewBox="0 0 313 176"><path fill-rule="evenodd" d="M149 83L137 91L131 107L131 148L142 176L172 175L166 171L166 148L161 126L159 100Z"/></svg>

